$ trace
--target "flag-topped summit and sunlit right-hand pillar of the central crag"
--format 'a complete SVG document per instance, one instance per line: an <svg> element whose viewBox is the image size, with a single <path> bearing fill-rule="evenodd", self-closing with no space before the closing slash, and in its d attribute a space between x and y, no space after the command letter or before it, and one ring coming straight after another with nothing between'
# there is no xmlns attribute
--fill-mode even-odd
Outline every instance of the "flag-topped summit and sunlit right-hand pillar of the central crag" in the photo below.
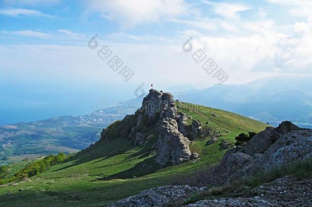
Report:
<svg viewBox="0 0 312 207"><path fill-rule="evenodd" d="M191 127L186 123L186 114L177 114L177 108L170 93L149 90L149 94L143 99L141 111L143 111L143 116L146 115L149 119L154 119L159 113L155 127L155 132L159 136L154 145L158 150L155 161L159 165L176 165L191 158L189 140L193 136L193 130L190 130ZM194 127L198 131L201 129L201 124L196 122Z"/></svg>

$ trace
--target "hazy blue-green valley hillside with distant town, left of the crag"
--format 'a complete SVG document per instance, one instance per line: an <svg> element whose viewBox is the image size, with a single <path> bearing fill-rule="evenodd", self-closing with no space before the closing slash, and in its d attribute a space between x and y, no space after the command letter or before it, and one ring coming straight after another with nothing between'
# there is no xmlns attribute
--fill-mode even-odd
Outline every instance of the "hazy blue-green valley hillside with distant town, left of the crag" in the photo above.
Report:
<svg viewBox="0 0 312 207"><path fill-rule="evenodd" d="M78 152L96 142L104 127L128 113L108 108L83 116L0 126L0 164L59 152Z"/></svg>

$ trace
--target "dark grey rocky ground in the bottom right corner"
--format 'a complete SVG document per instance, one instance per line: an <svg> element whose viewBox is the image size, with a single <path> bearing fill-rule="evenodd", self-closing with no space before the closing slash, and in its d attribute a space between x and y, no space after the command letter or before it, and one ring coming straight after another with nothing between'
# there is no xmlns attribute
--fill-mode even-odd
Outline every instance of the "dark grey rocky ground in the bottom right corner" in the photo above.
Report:
<svg viewBox="0 0 312 207"><path fill-rule="evenodd" d="M312 206L311 188L311 179L279 178L253 189L253 197L202 200L187 206Z"/></svg>

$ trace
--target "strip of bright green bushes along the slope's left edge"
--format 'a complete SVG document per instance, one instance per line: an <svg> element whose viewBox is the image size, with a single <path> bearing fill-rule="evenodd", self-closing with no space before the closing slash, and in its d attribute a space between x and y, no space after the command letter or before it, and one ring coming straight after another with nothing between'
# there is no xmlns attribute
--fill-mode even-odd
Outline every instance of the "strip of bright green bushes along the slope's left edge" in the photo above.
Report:
<svg viewBox="0 0 312 207"><path fill-rule="evenodd" d="M21 169L18 173L9 178L4 178L0 180L0 185L4 185L8 182L33 177L39 175L40 173L49 169L50 166L64 163L69 156L64 153L59 153L58 155L49 155L43 159L36 160L30 163L25 168ZM7 167L4 167L7 169Z"/></svg>

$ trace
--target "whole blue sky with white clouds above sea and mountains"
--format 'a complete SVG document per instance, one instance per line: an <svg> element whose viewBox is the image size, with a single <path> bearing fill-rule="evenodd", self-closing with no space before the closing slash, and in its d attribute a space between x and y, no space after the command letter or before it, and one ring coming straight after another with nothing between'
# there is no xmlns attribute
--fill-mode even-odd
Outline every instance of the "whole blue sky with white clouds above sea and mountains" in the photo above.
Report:
<svg viewBox="0 0 312 207"><path fill-rule="evenodd" d="M91 112L150 84L310 76L312 1L2 0L0 54L0 124Z"/></svg>

